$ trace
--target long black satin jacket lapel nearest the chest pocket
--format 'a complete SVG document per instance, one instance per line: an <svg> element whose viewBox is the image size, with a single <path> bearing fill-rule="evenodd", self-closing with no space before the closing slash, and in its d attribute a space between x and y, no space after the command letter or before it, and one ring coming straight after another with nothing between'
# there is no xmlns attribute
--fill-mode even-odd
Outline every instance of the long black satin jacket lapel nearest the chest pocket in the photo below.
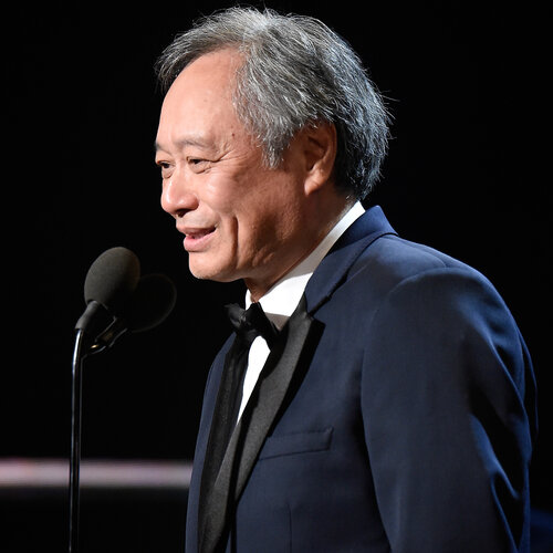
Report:
<svg viewBox="0 0 553 553"><path fill-rule="evenodd" d="M243 491L284 400L312 331L312 323L303 298L267 359L258 385L229 441L215 483L205 498L206 509L199 521L202 553L217 551L226 523L231 520L232 505Z"/></svg>

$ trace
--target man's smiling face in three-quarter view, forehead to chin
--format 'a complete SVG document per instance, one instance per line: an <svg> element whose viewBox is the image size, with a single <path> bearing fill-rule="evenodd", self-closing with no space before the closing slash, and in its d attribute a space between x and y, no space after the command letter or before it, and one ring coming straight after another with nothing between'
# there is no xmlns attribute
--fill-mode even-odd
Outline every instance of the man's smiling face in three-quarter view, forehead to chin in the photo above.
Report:
<svg viewBox="0 0 553 553"><path fill-rule="evenodd" d="M225 50L188 65L169 88L157 133L161 207L185 234L191 273L244 279L265 289L304 255L304 163L292 147L263 165L231 103L239 54Z"/></svg>

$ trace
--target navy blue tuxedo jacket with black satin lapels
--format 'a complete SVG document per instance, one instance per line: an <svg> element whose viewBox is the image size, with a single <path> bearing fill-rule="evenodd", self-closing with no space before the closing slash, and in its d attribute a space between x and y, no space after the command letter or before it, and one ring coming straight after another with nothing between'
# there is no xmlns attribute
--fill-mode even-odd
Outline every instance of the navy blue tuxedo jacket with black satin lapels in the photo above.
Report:
<svg viewBox="0 0 553 553"><path fill-rule="evenodd" d="M528 551L534 377L479 272L369 209L311 278L200 499L230 343L206 387L188 553Z"/></svg>

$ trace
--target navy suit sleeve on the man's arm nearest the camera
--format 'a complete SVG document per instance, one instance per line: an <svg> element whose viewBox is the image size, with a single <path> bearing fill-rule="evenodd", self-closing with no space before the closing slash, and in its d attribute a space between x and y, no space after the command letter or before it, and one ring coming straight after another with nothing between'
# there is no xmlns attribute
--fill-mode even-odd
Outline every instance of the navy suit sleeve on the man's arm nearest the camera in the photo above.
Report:
<svg viewBox="0 0 553 553"><path fill-rule="evenodd" d="M394 553L528 551L531 362L472 271L398 284L368 327L362 408Z"/></svg>

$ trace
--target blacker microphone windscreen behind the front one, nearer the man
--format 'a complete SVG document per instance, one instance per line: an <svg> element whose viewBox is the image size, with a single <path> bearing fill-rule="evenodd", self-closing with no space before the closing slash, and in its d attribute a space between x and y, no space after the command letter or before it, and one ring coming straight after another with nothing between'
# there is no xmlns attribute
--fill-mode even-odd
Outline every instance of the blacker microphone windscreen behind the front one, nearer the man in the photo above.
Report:
<svg viewBox="0 0 553 553"><path fill-rule="evenodd" d="M122 316L131 332L142 332L160 324L177 300L173 281L165 274L146 274L128 299Z"/></svg>

